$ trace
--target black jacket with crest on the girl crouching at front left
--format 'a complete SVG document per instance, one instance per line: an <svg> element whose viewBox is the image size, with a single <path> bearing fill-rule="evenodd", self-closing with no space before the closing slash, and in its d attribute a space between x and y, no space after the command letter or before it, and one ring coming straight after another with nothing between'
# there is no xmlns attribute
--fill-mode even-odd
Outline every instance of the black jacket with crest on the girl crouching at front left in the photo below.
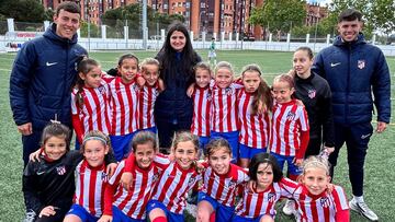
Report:
<svg viewBox="0 0 395 222"><path fill-rule="evenodd" d="M26 209L37 215L49 205L69 209L76 190L75 170L82 159L80 151L71 150L57 161L48 162L42 155L40 162L29 162L22 185ZM112 152L105 163L116 163Z"/></svg>

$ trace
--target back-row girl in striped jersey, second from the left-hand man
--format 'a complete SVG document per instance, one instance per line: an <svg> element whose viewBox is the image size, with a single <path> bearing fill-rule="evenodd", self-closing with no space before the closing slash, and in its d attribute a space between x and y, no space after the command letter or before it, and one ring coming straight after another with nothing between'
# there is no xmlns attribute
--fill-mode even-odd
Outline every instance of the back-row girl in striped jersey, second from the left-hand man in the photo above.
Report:
<svg viewBox="0 0 395 222"><path fill-rule="evenodd" d="M137 100L139 86L136 82L138 59L126 54L119 60L120 77L109 83L111 130L110 139L117 161L129 151L129 141L138 129Z"/></svg>

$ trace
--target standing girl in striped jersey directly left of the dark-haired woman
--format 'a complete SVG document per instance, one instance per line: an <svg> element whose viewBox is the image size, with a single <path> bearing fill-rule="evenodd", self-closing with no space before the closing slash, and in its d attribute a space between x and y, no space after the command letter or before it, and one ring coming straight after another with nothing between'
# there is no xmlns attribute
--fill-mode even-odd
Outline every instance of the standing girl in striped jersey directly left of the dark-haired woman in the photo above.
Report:
<svg viewBox="0 0 395 222"><path fill-rule="evenodd" d="M146 58L142 61L140 69L145 84L140 87L138 96L138 128L156 133L154 106L157 96L163 90L163 81L159 79L159 61Z"/></svg>

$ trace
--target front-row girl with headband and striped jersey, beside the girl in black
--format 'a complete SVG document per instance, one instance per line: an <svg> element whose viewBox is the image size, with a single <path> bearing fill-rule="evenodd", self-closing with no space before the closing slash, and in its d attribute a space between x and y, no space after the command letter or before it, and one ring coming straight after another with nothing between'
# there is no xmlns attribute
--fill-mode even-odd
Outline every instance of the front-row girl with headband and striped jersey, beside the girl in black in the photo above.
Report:
<svg viewBox="0 0 395 222"><path fill-rule="evenodd" d="M77 165L74 205L65 222L98 221L103 214L104 189L108 184L104 156L111 152L110 139L103 132L89 131L82 140L84 159Z"/></svg>

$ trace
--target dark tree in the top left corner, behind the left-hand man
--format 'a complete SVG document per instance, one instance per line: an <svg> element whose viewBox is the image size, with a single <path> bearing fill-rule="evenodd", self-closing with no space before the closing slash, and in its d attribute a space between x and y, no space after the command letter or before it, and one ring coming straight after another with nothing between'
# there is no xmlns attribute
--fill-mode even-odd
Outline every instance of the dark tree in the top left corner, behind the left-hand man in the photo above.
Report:
<svg viewBox="0 0 395 222"><path fill-rule="evenodd" d="M44 7L37 0L3 0L0 4L0 14L13 17L15 22L42 23Z"/></svg>

